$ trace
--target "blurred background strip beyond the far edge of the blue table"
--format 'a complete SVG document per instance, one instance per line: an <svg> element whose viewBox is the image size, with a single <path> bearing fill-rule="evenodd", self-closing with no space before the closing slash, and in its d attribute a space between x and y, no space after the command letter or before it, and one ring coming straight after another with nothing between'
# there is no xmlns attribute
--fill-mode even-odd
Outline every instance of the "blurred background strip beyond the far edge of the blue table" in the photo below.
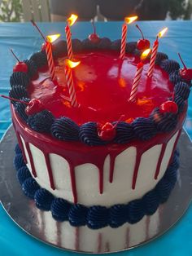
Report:
<svg viewBox="0 0 192 256"><path fill-rule="evenodd" d="M79 20L191 20L192 0L0 0L0 22Z"/></svg>

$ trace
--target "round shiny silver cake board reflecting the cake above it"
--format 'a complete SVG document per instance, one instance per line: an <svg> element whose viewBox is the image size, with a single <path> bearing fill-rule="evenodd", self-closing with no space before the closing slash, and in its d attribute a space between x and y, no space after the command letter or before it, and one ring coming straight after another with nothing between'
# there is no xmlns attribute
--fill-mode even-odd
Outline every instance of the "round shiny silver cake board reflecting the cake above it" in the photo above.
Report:
<svg viewBox="0 0 192 256"><path fill-rule="evenodd" d="M29 235L60 249L84 253L107 253L132 249L166 232L181 218L192 197L190 166L192 145L185 131L179 142L181 166L178 179L168 202L160 205L152 216L136 224L118 228L72 227L68 222L56 222L49 212L38 210L34 201L24 196L13 167L15 133L11 127L0 144L0 195L7 214ZM185 188L185 189L184 189Z"/></svg>

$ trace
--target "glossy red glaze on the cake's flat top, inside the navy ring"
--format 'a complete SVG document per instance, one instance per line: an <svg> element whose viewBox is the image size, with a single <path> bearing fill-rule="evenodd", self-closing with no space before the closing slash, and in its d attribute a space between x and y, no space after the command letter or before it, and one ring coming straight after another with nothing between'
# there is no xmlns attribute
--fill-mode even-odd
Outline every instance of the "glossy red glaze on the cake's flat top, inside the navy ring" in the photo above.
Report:
<svg viewBox="0 0 192 256"><path fill-rule="evenodd" d="M74 55L74 60L81 61L72 69L80 108L72 108L68 100L68 86L63 72L64 57L55 62L59 86L51 82L48 68L41 69L39 77L28 86L30 98L41 99L43 107L55 117L69 117L78 124L86 121L113 122L121 115L124 115L124 120L149 117L155 107L172 96L173 85L169 82L168 73L155 66L154 76L148 79L149 60L146 60L137 88L137 102L129 102L139 56L125 55L122 62L118 52L94 51Z"/></svg>

